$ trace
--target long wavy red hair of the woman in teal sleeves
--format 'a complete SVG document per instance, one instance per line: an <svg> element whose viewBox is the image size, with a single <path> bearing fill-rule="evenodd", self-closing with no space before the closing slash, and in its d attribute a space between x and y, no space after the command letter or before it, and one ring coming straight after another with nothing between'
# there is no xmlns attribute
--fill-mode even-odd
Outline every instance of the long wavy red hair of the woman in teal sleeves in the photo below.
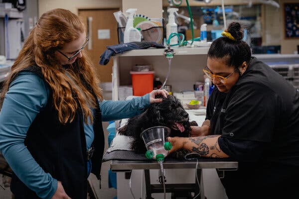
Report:
<svg viewBox="0 0 299 199"><path fill-rule="evenodd" d="M78 39L80 33L84 31L84 24L69 10L58 8L42 14L11 67L10 76L3 85L0 106L8 91L9 83L20 71L36 65L41 68L43 77L52 91L53 104L58 111L59 121L61 123L73 121L75 112L80 107L85 123L88 123L88 118L93 123L92 109L96 107L96 101L91 90L99 100L103 100L103 97L90 58L82 50L81 58L77 57L73 64L62 67L54 55L56 50Z"/></svg>

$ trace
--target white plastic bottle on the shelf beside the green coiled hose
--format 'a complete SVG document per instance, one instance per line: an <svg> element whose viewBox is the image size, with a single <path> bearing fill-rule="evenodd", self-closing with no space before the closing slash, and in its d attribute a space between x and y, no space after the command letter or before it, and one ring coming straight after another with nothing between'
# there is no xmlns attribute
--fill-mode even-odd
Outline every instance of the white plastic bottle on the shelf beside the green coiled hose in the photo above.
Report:
<svg viewBox="0 0 299 199"><path fill-rule="evenodd" d="M168 15L168 23L166 24L166 41L168 40L169 35L172 32L177 33L177 24L175 23L175 18L174 18L174 13L177 13L177 11L178 11L178 8L175 8L175 7L171 7L171 8L167 9L167 12L169 12L169 15ZM177 36L173 36L170 39L170 45L173 45L173 44L177 44Z"/></svg>

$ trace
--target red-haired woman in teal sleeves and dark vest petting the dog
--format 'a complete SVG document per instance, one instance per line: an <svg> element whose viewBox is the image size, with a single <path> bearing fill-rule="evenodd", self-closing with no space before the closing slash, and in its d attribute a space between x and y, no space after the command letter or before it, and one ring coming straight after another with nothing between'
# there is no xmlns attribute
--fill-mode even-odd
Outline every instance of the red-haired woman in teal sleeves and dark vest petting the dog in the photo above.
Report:
<svg viewBox="0 0 299 199"><path fill-rule="evenodd" d="M103 121L140 114L166 97L103 100L84 52L84 24L69 10L42 14L11 67L0 98L0 150L13 170L15 199L86 199L100 178Z"/></svg>

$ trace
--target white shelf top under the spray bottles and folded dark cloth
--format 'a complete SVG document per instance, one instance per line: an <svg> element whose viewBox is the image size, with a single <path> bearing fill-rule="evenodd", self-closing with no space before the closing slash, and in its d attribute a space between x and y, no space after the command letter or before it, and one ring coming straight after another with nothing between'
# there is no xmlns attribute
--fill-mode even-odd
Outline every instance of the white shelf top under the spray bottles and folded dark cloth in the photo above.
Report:
<svg viewBox="0 0 299 199"><path fill-rule="evenodd" d="M133 57L133 56L164 56L164 50L166 48L149 48L149 49L138 49L138 50L130 50L126 51L122 54L115 55L116 57ZM171 48L174 51L174 56L177 55L206 55L208 53L209 47L179 47L179 48Z"/></svg>

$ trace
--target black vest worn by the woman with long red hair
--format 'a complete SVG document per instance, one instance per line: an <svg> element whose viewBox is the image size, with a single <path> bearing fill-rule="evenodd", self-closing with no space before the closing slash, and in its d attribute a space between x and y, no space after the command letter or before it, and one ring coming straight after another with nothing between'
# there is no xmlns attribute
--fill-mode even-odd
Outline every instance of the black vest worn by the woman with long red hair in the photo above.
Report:
<svg viewBox="0 0 299 199"><path fill-rule="evenodd" d="M34 72L44 79L39 67L31 66L24 71ZM86 199L87 151L83 114L78 108L72 122L61 124L51 93L50 91L46 107L37 114L30 125L24 143L40 167L62 182L66 194L71 199ZM94 94L93 91L92 93ZM97 108L93 124L95 152L92 157L92 173L100 179L105 139L102 113L98 99L95 95L94 97ZM14 174L10 189L16 199L38 199Z"/></svg>

